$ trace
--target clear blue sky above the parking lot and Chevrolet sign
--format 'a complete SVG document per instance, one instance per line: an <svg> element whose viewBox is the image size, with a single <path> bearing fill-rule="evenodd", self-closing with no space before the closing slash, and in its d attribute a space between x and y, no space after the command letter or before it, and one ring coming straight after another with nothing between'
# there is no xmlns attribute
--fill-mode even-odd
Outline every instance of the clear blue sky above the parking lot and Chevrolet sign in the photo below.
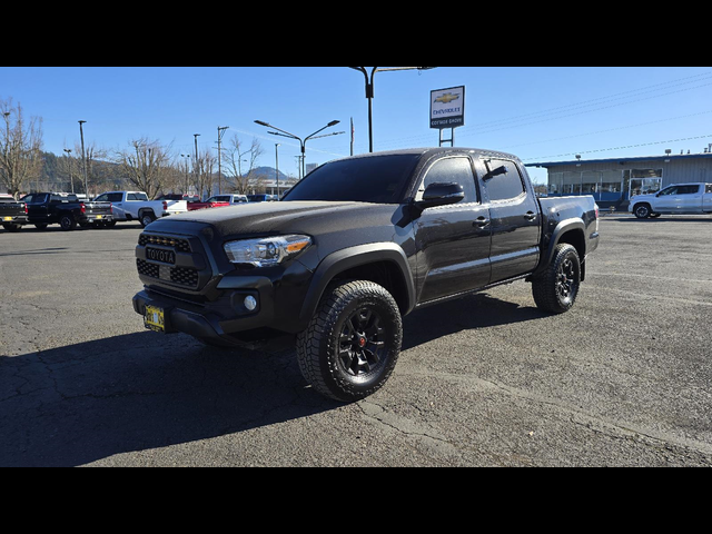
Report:
<svg viewBox="0 0 712 534"><path fill-rule="evenodd" d="M370 71L370 67L367 68ZM712 67L438 67L377 72L374 148L437 146L429 92L465 86L465 126L457 146L512 152L525 162L701 152L712 142ZM0 100L42 118L44 150L62 155L79 141L109 151L141 137L175 154L257 137L259 164L297 174L298 142L275 137L263 120L299 137L332 120L307 142L307 162L368 151L364 77L347 67L0 67ZM530 169L543 181L545 170Z"/></svg>

